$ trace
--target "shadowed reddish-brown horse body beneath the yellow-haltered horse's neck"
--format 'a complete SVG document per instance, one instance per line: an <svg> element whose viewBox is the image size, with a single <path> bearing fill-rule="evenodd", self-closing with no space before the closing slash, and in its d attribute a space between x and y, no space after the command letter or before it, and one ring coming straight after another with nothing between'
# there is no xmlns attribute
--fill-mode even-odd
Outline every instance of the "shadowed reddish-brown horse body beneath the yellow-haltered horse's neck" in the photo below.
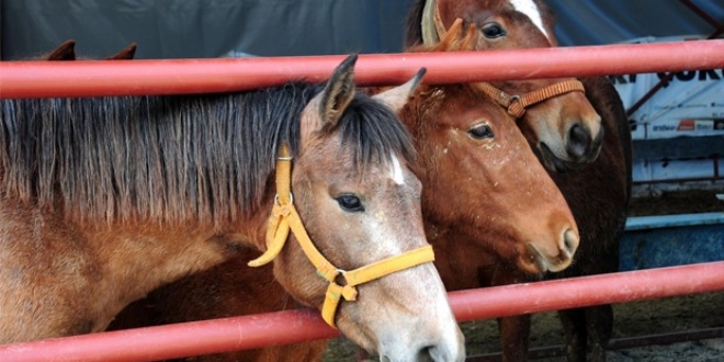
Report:
<svg viewBox="0 0 724 362"><path fill-rule="evenodd" d="M259 251L244 249L234 259L162 286L134 302L111 323L110 330L253 315L298 308L274 280L271 265L249 268ZM244 285L244 287L240 287ZM278 362L321 361L327 340L210 354L181 361Z"/></svg>

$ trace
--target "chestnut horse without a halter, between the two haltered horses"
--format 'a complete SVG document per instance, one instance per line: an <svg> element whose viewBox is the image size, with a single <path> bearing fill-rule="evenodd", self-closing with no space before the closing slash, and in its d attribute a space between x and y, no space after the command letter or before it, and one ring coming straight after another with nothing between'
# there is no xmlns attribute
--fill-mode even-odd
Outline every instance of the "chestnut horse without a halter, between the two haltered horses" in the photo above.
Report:
<svg viewBox="0 0 724 362"><path fill-rule="evenodd" d="M443 43L420 50L440 52L452 46ZM435 249L434 264L441 274L457 275L444 281L453 289L476 286L480 265L493 264L471 256L505 258L538 274L568 267L578 244L575 220L559 190L514 120L478 86L422 84L399 111L418 150L419 167L412 170L422 182L422 216ZM365 91L378 93L383 89ZM234 287L244 283L242 274L233 272L239 268L244 268L244 260L235 259L166 285L124 310L113 326L143 327L258 313L251 308L256 303L249 302L253 296ZM269 304L263 312L293 307L285 304L283 295L264 293L258 298ZM290 348L309 352L304 354L306 360L318 361L325 344L314 341ZM262 352L196 360L269 361L253 360L254 353Z"/></svg>

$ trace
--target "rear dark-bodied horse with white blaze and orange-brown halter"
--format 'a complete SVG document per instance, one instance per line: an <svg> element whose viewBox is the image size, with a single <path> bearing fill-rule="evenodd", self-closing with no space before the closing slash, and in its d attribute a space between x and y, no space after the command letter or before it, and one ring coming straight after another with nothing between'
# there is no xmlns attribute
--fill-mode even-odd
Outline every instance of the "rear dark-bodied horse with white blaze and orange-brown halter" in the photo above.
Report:
<svg viewBox="0 0 724 362"><path fill-rule="evenodd" d="M435 38L444 36L456 19L480 29L480 37L474 46L477 50L557 46L553 33L555 15L540 0L418 0L407 20L407 45L434 43ZM585 99L580 92L574 91L544 100L527 110L518 122L536 156L563 192L580 230L580 248L573 267L547 278L618 271L619 241L631 195L631 132L621 100L604 77L579 80L584 84ZM551 81L506 81L495 86L505 93L519 94L551 87ZM510 109L510 104L504 106ZM588 117L591 122L585 123L588 126L565 125L564 121L570 120L572 110L581 110L574 113L590 114L587 111L589 106L600 115L599 128L595 126L592 115ZM578 118L584 120L582 116ZM566 142L564 133L546 128L566 131L568 139L590 138L592 143L587 147L572 146ZM582 134L574 136L586 128L599 132L590 137ZM598 147L597 143L600 144ZM599 148L598 152L596 148ZM575 158L566 158L565 154L556 149L567 149L568 154L574 155L576 149L587 149L580 154L588 155L582 158L587 162L576 163ZM446 279L444 273L442 276ZM508 280L487 275L480 278L480 285L513 283L521 279L525 280L514 273ZM606 360L606 346L613 325L610 305L559 310L559 317L564 326L568 361L585 361L589 347L593 361ZM527 360L529 330L529 316L500 319L504 360Z"/></svg>

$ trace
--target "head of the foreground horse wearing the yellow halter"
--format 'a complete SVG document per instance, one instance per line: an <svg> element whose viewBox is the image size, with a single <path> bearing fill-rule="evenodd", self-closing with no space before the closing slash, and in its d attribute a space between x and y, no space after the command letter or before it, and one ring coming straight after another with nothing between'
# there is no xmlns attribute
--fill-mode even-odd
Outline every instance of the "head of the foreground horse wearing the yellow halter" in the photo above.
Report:
<svg viewBox="0 0 724 362"><path fill-rule="evenodd" d="M420 181L408 169L412 144L385 105L403 104L400 93L406 101L417 81L401 86L401 92L369 98L355 92L355 59L342 63L305 108L294 156L294 205L326 260L310 262L317 257L303 251L296 241L304 237L294 233L296 241L281 251L274 272L295 298L323 308L328 323L386 361L462 361L463 337L445 290L431 259L419 258L431 249L420 214ZM401 254L383 265L387 271L358 273ZM349 286L358 278L370 281L354 292ZM330 282L337 286L327 290ZM332 299L341 294L336 315L323 307L329 302L325 293Z"/></svg>

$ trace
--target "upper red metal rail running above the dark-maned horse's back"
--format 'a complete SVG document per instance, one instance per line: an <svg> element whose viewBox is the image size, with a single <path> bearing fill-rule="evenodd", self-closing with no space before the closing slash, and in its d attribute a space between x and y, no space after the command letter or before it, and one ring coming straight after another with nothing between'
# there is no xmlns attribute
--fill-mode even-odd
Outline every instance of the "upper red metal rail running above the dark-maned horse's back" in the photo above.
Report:
<svg viewBox="0 0 724 362"><path fill-rule="evenodd" d="M321 82L343 56L241 59L0 61L0 98L241 91ZM428 83L607 76L724 68L724 39L497 52L361 55L361 86L398 84L420 68Z"/></svg>

